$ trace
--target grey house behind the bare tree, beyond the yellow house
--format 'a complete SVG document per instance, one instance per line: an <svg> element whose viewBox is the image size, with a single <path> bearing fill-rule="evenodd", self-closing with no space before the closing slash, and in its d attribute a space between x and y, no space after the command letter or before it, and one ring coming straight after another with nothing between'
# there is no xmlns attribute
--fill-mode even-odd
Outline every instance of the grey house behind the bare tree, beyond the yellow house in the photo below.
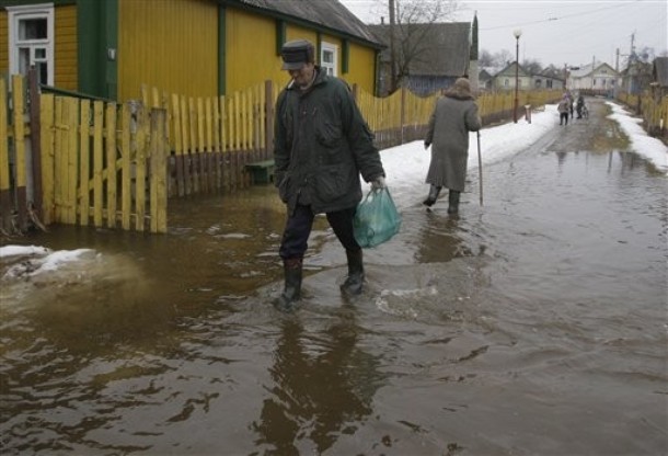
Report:
<svg viewBox="0 0 668 456"><path fill-rule="evenodd" d="M398 87L427 95L446 89L469 72L471 24L469 22L398 24L394 46L390 25L369 25L377 41L385 46L380 54L379 94L392 88L392 49Z"/></svg>

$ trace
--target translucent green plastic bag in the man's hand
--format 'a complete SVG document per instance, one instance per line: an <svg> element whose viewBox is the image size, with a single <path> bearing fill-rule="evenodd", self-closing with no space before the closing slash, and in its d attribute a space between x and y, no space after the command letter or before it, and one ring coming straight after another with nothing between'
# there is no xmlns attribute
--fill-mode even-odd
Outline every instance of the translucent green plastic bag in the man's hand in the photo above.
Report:
<svg viewBox="0 0 668 456"><path fill-rule="evenodd" d="M355 240L362 248L376 247L399 232L401 216L388 187L370 190L357 206L353 220Z"/></svg>

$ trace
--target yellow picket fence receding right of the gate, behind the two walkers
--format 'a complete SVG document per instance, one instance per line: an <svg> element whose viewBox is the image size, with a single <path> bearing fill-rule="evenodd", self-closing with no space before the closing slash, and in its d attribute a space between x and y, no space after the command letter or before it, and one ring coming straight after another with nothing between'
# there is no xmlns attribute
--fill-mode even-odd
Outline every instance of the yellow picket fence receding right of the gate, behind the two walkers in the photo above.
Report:
<svg viewBox="0 0 668 456"><path fill-rule="evenodd" d="M183 196L242 189L252 183L247 166L273 158L275 102L280 83L265 81L230 95L192 98L154 87L141 89L146 106L166 111L172 160L169 195ZM418 96L406 89L377 98L353 88L362 116L379 148L424 137L438 94ZM558 91L520 93L520 113L561 98ZM512 113L512 93L484 94L479 99L483 123Z"/></svg>

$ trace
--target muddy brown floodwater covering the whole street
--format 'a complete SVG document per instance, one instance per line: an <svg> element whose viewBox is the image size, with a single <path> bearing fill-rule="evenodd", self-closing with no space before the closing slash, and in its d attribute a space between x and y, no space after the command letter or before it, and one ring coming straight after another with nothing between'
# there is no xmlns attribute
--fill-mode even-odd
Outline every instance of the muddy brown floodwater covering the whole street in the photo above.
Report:
<svg viewBox="0 0 668 456"><path fill-rule="evenodd" d="M668 181L590 111L486 166L483 206L475 172L458 217L402 208L354 301L318 219L295 315L270 186L13 239L91 252L2 260L1 453L668 454Z"/></svg>

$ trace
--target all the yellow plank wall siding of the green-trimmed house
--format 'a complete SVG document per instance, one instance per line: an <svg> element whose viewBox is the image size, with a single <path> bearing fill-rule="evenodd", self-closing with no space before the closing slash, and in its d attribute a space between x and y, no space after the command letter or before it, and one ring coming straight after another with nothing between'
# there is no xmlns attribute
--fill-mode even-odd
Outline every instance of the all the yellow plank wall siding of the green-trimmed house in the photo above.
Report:
<svg viewBox="0 0 668 456"><path fill-rule="evenodd" d="M142 84L171 93L210 96L219 94L219 90L229 94L267 79L279 84L289 80L280 69L281 59L276 52L280 44L276 43L275 18L220 7L211 0L113 1L117 1L117 20L113 22L104 23L104 10L89 11L91 20L102 21L94 23L92 34L81 32L81 26L90 21L80 4L56 3L54 86L123 102L139 98ZM224 8L223 14L219 14L223 11L221 8ZM105 35L103 26L118 27L117 43ZM284 36L288 41L306 38L314 44L323 41L335 44L339 49L338 76L367 92L375 92L373 48L355 42L346 44L342 37L289 20L285 22ZM87 43L85 53L81 54L81 45ZM220 54L219 43L224 44L224 52ZM344 61L346 46L347 61ZM9 68L8 47L8 13L0 11L0 72ZM107 60L107 47L116 48L115 61ZM224 61L219 61L219 55ZM81 73L81 65L97 70L85 72L87 78ZM111 79L110 71L113 71ZM104 88L112 83L113 93L105 92Z"/></svg>

